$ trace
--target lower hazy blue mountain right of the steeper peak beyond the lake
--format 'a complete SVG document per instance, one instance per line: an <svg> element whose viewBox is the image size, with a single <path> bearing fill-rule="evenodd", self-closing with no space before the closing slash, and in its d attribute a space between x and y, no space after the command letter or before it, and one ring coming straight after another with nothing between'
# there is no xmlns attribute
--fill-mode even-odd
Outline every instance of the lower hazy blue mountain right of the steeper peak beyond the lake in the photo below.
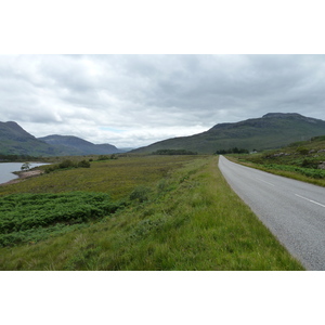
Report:
<svg viewBox="0 0 325 325"><path fill-rule="evenodd" d="M69 153L69 155L109 155L121 152L112 144L93 144L89 141L72 135L53 134L38 138L38 140L51 144L57 150Z"/></svg>

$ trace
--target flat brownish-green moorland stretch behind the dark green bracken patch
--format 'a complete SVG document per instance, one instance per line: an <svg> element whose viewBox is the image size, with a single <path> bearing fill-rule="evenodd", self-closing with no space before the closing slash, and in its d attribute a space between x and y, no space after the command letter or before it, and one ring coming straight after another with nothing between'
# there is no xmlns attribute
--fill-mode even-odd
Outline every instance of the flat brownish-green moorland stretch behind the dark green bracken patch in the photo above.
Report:
<svg viewBox="0 0 325 325"><path fill-rule="evenodd" d="M113 199L119 199L129 195L135 186L156 182L195 157L125 156L117 160L93 161L91 168L56 170L18 184L0 186L0 195L83 191L109 193Z"/></svg>

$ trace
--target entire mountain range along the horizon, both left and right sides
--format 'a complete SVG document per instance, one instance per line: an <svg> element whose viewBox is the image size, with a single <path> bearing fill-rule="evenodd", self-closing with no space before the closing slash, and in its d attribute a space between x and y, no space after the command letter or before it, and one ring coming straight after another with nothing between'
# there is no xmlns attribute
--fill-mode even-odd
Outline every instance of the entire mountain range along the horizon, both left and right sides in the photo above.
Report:
<svg viewBox="0 0 325 325"><path fill-rule="evenodd" d="M232 147L277 148L292 142L325 135L325 121L297 113L268 113L260 118L217 123L209 130L162 140L130 153L185 150L213 154ZM74 135L52 134L35 138L14 121L0 122L0 154L29 156L106 155L121 153L112 144L93 144Z"/></svg>

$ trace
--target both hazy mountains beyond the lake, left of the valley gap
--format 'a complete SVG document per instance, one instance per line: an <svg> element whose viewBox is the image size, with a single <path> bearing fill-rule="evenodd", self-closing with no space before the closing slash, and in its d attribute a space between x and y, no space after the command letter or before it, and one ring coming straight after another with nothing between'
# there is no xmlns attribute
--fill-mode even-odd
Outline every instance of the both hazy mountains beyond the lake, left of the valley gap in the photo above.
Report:
<svg viewBox="0 0 325 325"><path fill-rule="evenodd" d="M121 153L112 144L93 144L77 136L35 138L14 121L0 122L0 154L28 156L79 156Z"/></svg>

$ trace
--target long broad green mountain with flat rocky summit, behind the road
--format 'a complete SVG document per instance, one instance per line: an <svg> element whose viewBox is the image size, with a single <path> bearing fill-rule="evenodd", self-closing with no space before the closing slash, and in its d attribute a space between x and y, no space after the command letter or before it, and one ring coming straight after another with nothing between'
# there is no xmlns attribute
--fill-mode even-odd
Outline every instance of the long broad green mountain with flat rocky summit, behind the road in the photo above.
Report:
<svg viewBox="0 0 325 325"><path fill-rule="evenodd" d="M325 121L296 113L269 113L261 118L234 123L219 123L210 130L191 136L156 142L133 153L153 153L158 150L186 150L212 154L231 147L249 151L276 148L291 142L325 134Z"/></svg>

